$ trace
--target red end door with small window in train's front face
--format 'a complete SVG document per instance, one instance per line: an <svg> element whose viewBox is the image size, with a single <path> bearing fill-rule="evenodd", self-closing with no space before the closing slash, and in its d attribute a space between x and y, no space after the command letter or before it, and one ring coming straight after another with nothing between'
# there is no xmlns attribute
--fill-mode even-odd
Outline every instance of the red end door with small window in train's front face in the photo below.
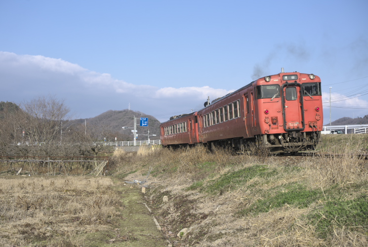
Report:
<svg viewBox="0 0 368 247"><path fill-rule="evenodd" d="M299 83L282 85L284 129L286 131L304 129L303 96L300 95L300 87Z"/></svg>

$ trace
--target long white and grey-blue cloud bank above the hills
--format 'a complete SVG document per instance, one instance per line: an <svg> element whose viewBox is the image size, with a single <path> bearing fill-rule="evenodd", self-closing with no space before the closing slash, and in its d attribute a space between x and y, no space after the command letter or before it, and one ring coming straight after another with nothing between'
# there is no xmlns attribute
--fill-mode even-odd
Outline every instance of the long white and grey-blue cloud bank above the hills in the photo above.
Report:
<svg viewBox="0 0 368 247"><path fill-rule="evenodd" d="M20 103L52 94L64 99L79 118L126 109L129 103L132 110L166 116L203 105L208 96L213 100L231 92L209 86L159 88L136 85L62 59L1 51L0 80L6 82L5 90L0 91L3 101Z"/></svg>

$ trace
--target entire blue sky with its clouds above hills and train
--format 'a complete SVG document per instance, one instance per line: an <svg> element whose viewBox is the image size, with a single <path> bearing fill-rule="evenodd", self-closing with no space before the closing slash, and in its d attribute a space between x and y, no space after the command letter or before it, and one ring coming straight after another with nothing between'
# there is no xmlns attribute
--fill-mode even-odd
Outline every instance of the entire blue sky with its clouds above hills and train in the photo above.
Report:
<svg viewBox="0 0 368 247"><path fill-rule="evenodd" d="M368 1L0 0L0 101L161 122L281 72L322 79L325 124L368 115ZM344 82L344 83L341 83ZM360 108L360 109L359 109Z"/></svg>

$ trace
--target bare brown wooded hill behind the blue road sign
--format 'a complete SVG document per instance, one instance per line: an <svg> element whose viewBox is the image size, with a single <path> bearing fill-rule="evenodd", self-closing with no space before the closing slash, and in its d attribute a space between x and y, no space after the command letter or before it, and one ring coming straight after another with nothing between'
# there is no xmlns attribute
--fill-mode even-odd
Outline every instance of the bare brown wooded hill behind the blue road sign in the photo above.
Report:
<svg viewBox="0 0 368 247"><path fill-rule="evenodd" d="M118 137L118 141L131 141L133 140L131 130L133 130L134 116L137 118L137 140L147 140L148 130L150 140L160 139L160 122L155 117L128 109L109 110L94 118L70 120L68 124L84 126L86 123L86 131L93 129L93 131L100 132L100 138L106 137L107 141L115 141L115 137ZM139 126L140 118L148 118L148 126ZM128 129L123 129L124 126ZM156 136L152 136L153 134Z"/></svg>

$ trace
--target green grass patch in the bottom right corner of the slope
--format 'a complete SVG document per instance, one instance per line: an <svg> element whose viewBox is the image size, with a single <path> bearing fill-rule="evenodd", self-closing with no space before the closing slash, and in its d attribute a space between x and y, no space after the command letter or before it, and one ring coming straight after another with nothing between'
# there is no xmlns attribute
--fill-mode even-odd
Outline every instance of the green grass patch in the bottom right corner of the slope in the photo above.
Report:
<svg viewBox="0 0 368 247"><path fill-rule="evenodd" d="M320 238L327 238L336 228L351 228L351 231L368 232L368 197L328 201L321 209L307 215L310 224L315 225Z"/></svg>

